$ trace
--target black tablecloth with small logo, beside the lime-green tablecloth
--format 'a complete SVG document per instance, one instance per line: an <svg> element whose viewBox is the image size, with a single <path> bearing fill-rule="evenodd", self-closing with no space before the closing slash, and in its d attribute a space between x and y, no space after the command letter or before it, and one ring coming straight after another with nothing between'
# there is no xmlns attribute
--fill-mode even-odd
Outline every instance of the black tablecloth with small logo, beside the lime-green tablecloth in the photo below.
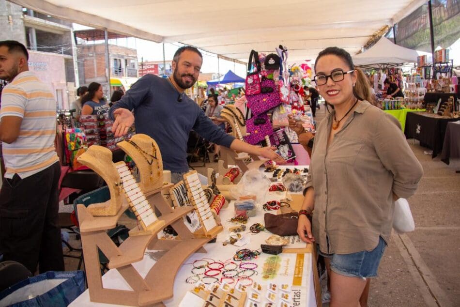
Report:
<svg viewBox="0 0 460 307"><path fill-rule="evenodd" d="M404 134L406 138L415 138L420 145L433 150L432 158L443 150L445 129L448 122L458 119L447 118L427 112L408 112Z"/></svg>

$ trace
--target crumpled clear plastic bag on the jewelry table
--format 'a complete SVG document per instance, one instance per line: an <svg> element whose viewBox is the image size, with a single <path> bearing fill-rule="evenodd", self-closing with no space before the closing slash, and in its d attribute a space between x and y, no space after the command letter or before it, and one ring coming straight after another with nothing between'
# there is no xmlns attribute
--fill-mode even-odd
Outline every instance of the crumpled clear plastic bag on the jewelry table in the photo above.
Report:
<svg viewBox="0 0 460 307"><path fill-rule="evenodd" d="M264 178L259 169L249 169L240 182L230 188L230 193L235 199L239 199L241 195L255 195L256 202L262 203L270 183L270 180Z"/></svg>

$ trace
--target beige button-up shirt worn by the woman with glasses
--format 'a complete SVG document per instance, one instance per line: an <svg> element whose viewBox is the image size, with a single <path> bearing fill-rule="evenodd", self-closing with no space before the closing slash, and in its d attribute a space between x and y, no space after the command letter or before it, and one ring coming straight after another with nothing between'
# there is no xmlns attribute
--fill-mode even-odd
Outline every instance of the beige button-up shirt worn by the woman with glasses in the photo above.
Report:
<svg viewBox="0 0 460 307"><path fill-rule="evenodd" d="M415 193L423 169L393 116L359 102L326 149L334 112L318 126L307 187L315 190L312 231L320 250L350 254L388 243L394 201Z"/></svg>

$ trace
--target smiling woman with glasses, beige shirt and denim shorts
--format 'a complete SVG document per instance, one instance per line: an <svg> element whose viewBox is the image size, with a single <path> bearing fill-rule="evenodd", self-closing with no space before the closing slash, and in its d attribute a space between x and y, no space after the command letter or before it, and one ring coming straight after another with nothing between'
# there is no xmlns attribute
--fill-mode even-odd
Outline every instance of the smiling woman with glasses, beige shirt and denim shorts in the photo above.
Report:
<svg viewBox="0 0 460 307"><path fill-rule="evenodd" d="M348 52L324 49L315 72L333 110L315 135L297 232L325 258L330 306L363 307L390 238L394 200L412 196L423 171L399 122L355 91Z"/></svg>

